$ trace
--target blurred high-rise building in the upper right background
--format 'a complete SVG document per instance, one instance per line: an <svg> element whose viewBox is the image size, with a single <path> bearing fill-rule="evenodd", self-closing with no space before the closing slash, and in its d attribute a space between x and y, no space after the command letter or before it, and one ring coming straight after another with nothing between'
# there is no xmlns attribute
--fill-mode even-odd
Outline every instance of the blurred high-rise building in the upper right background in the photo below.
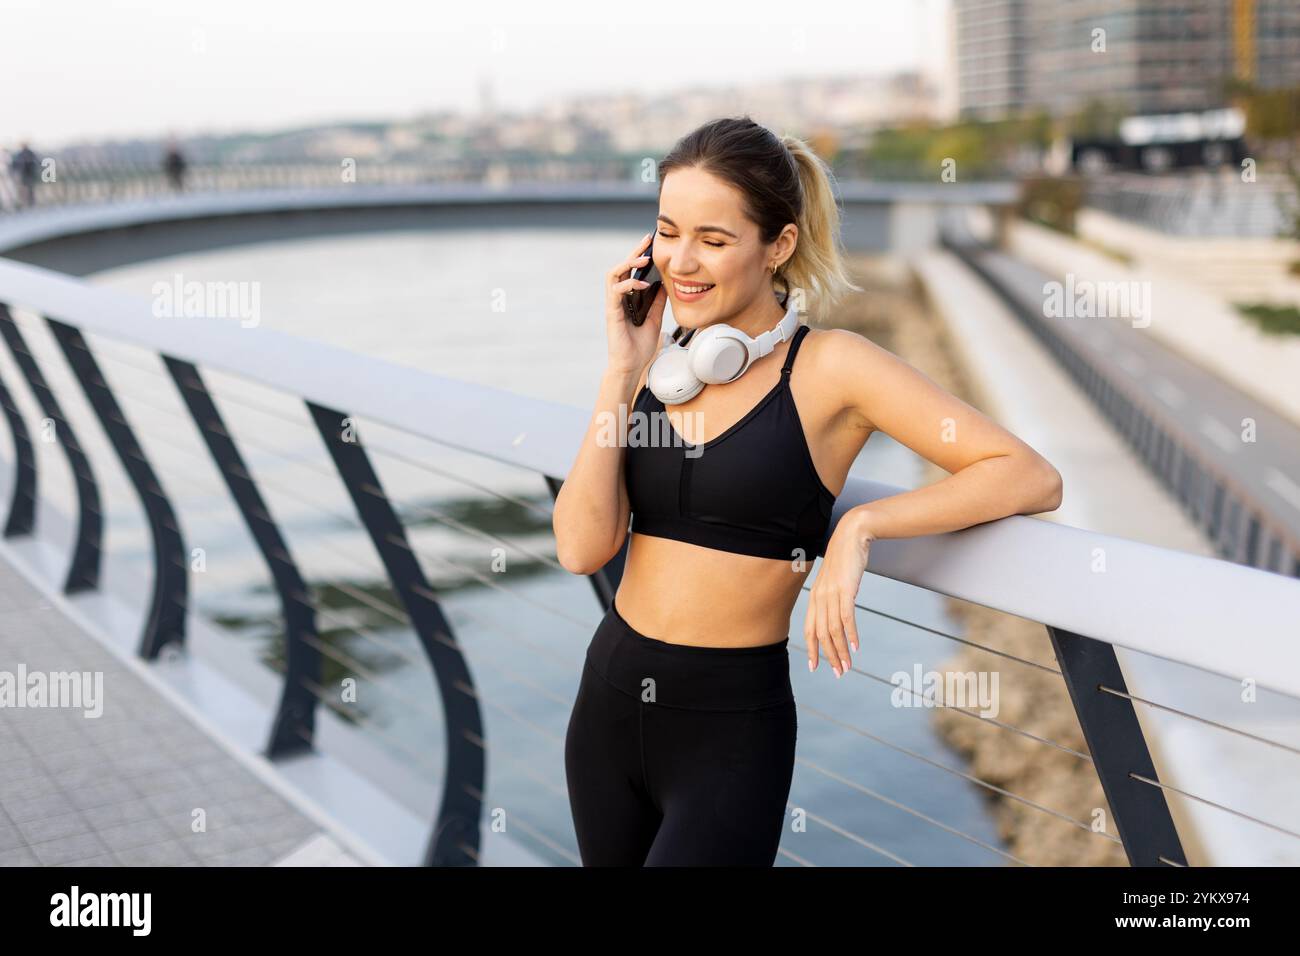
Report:
<svg viewBox="0 0 1300 956"><path fill-rule="evenodd" d="M1300 0L954 0L962 118L1213 109L1300 85Z"/></svg>

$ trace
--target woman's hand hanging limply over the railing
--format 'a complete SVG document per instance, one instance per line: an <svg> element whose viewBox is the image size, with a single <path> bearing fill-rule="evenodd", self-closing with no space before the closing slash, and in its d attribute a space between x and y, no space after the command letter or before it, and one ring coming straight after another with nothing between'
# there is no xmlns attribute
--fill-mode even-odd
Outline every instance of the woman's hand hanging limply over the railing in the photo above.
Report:
<svg viewBox="0 0 1300 956"><path fill-rule="evenodd" d="M871 553L871 533L864 507L840 518L827 541L822 570L809 592L809 611L803 620L803 640L809 649L809 670L816 670L819 650L826 654L835 676L848 672L849 648L858 649L854 604Z"/></svg>

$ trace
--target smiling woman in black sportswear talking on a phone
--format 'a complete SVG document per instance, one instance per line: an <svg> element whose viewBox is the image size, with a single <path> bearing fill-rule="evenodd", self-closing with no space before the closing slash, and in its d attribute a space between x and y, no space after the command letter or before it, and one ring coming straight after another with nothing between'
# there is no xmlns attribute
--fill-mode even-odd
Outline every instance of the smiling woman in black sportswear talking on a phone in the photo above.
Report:
<svg viewBox="0 0 1300 956"><path fill-rule="evenodd" d="M824 656L837 678L858 649L872 541L1050 511L1061 476L889 351L798 324L801 304L820 317L857 289L828 170L802 140L716 120L673 147L659 183L664 285L634 326L621 297L646 287L629 273L650 235L610 271L608 364L555 502L558 557L575 574L604 567L632 518L569 717L569 801L588 866L771 866L794 769L790 613L863 444L885 432L949 477L846 511L826 541L803 641L809 670ZM757 339L738 377L685 401L662 375L645 388L670 297L692 338L725 323ZM673 441L634 440L629 401ZM608 420L629 424L616 442L599 440Z"/></svg>

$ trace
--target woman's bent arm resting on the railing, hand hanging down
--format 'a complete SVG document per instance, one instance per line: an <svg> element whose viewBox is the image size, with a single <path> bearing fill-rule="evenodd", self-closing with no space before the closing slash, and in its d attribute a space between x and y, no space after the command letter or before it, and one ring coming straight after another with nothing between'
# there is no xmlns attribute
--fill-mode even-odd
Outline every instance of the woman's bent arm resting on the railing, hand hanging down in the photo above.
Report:
<svg viewBox="0 0 1300 956"><path fill-rule="evenodd" d="M939 535L1009 515L1061 506L1061 475L1037 451L945 392L887 349L846 329L827 329L818 350L820 381L845 397L857 427L880 431L949 476L932 485L858 505L841 515L809 596L803 637L809 670L819 650L840 676L858 649L854 602L871 542Z"/></svg>

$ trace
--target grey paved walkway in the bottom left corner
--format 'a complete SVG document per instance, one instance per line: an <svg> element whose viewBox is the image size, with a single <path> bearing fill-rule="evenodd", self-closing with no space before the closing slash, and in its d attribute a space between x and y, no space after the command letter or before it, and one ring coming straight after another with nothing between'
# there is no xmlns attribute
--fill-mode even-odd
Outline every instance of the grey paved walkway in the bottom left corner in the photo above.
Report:
<svg viewBox="0 0 1300 956"><path fill-rule="evenodd" d="M5 695L53 674L90 695ZM0 559L0 865L358 864Z"/></svg>

